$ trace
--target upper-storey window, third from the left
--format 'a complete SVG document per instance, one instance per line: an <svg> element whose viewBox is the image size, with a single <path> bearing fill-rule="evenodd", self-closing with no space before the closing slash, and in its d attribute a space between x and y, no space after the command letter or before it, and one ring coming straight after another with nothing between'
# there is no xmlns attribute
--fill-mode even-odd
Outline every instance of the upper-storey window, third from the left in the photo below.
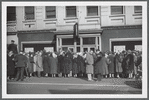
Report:
<svg viewBox="0 0 149 100"><path fill-rule="evenodd" d="M46 6L46 19L48 18L56 18L55 6Z"/></svg>

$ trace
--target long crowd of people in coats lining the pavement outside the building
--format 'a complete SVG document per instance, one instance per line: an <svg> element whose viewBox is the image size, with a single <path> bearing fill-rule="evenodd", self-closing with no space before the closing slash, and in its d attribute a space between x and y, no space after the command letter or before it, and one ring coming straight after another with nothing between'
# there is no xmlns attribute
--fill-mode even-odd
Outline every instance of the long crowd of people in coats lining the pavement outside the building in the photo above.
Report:
<svg viewBox="0 0 149 100"><path fill-rule="evenodd" d="M81 77L88 81L102 78L135 78L142 69L141 51L73 53L45 50L7 54L7 79L23 81L25 77Z"/></svg>

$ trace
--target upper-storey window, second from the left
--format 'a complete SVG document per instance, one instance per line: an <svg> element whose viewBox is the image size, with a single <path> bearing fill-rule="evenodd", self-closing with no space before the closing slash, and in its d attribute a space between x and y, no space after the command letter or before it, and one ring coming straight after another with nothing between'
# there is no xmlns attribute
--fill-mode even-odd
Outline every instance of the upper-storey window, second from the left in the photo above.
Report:
<svg viewBox="0 0 149 100"><path fill-rule="evenodd" d="M26 20L33 20L33 19L35 19L34 6L26 6L25 7L25 19Z"/></svg>

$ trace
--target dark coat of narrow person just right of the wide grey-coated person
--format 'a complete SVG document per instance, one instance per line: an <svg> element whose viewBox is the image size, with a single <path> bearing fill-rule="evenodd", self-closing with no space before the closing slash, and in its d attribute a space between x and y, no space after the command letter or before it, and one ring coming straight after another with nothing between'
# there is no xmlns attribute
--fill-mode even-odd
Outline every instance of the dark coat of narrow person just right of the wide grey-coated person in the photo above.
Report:
<svg viewBox="0 0 149 100"><path fill-rule="evenodd" d="M113 54L110 54L108 56L108 59L110 60L110 64L108 66L108 70L109 70L109 74L114 74L114 55Z"/></svg>

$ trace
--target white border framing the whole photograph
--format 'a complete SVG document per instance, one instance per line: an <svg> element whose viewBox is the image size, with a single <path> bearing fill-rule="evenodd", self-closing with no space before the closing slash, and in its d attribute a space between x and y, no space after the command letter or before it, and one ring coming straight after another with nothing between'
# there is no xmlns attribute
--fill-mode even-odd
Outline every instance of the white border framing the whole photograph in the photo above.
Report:
<svg viewBox="0 0 149 100"><path fill-rule="evenodd" d="M6 46L7 46L7 25L6 25L6 7L7 6L86 6L86 5L141 5L142 6L142 66L143 66L143 79L142 79L142 94L7 94L7 71L6 71ZM67 2L2 2L2 98L147 98L147 1L67 1Z"/></svg>

